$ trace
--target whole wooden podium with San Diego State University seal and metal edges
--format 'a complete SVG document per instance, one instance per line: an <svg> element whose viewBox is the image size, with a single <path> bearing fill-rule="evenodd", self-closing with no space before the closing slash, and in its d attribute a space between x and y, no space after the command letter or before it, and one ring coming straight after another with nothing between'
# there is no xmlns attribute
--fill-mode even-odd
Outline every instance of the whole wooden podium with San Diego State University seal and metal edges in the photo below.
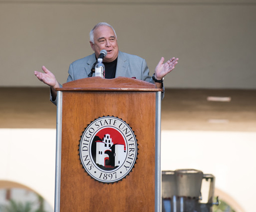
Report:
<svg viewBox="0 0 256 212"><path fill-rule="evenodd" d="M54 211L160 212L161 89L132 78L91 77L57 93ZM98 151L108 148L109 134L100 136L107 130L119 137L109 133L113 146Z"/></svg>

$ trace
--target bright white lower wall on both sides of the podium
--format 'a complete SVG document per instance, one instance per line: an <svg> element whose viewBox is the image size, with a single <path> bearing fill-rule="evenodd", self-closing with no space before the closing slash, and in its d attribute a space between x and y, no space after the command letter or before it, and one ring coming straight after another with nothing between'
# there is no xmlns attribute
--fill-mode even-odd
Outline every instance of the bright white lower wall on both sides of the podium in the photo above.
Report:
<svg viewBox="0 0 256 212"><path fill-rule="evenodd" d="M55 129L0 129L0 180L30 187L54 206ZM256 132L163 131L162 170L193 168L253 212Z"/></svg>

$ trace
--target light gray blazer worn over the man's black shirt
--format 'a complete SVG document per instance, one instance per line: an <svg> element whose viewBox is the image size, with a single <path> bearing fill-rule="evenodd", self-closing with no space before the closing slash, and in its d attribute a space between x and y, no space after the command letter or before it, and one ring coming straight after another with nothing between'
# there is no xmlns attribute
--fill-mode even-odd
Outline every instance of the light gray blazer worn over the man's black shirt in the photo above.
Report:
<svg viewBox="0 0 256 212"><path fill-rule="evenodd" d="M95 54L89 55L85 58L78 59L70 64L68 71L68 78L66 82L73 80L79 80L87 78L91 72L91 68L95 63ZM116 64L116 77L135 77L137 80L144 80L150 83L154 83L152 77L150 77L150 71L146 64L145 59L136 55L130 55L122 51L118 52L117 64ZM93 73L93 76L95 74ZM162 93L162 99L164 96L164 87ZM57 101L50 100L56 105Z"/></svg>

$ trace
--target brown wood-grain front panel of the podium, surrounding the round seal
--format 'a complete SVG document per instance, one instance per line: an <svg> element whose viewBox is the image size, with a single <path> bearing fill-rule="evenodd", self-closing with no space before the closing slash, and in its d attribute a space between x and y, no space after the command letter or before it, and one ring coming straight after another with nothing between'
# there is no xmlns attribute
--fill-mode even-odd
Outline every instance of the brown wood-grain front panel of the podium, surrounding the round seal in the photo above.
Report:
<svg viewBox="0 0 256 212"><path fill-rule="evenodd" d="M97 90L89 86L86 90L81 85L73 86L75 91L65 84L60 89L63 90L60 212L153 212L156 116L153 87L150 91L136 88L115 91L111 87ZM138 140L138 156L132 172L122 181L110 184L91 178L79 156L84 129L102 116L123 119Z"/></svg>

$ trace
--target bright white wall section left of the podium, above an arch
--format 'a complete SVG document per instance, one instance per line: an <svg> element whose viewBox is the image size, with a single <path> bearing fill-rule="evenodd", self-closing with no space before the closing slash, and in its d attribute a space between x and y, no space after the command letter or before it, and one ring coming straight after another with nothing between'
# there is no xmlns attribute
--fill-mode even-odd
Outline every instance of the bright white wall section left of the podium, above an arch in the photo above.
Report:
<svg viewBox="0 0 256 212"><path fill-rule="evenodd" d="M55 129L0 128L0 180L40 194L54 208Z"/></svg>

